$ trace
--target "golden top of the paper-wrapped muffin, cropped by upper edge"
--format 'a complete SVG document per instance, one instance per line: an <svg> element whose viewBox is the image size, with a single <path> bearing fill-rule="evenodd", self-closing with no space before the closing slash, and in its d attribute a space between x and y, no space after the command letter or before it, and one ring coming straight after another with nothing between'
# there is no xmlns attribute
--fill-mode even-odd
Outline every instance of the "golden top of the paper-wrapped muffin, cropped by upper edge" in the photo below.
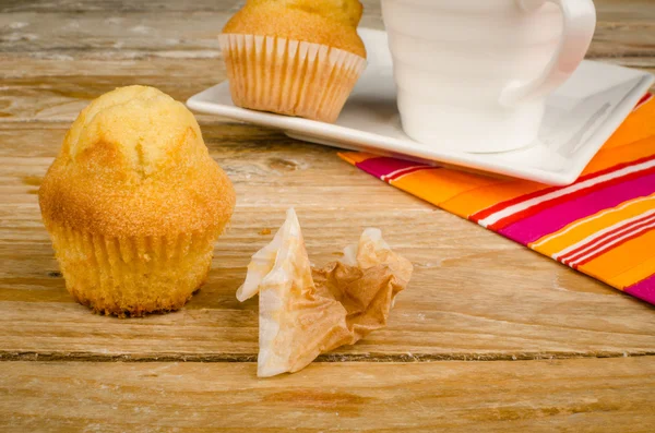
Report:
<svg viewBox="0 0 655 433"><path fill-rule="evenodd" d="M361 13L358 0L248 0L223 33L284 37L366 58L357 34Z"/></svg>

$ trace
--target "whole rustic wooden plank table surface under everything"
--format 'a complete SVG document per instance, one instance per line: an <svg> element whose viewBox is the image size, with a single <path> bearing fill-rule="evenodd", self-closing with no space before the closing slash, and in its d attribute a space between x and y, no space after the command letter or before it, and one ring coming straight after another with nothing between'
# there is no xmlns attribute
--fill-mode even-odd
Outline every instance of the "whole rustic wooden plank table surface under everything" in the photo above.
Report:
<svg viewBox="0 0 655 433"><path fill-rule="evenodd" d="M596 0L588 57L655 71L655 2ZM653 431L655 309L358 171L335 151L198 116L238 205L180 312L92 314L64 289L36 192L70 123L128 84L225 79L228 0L0 0L0 430ZM378 0L365 26L381 28ZM366 205L365 203L374 203ZM295 206L323 264L380 227L415 264L390 326L255 377L235 290Z"/></svg>

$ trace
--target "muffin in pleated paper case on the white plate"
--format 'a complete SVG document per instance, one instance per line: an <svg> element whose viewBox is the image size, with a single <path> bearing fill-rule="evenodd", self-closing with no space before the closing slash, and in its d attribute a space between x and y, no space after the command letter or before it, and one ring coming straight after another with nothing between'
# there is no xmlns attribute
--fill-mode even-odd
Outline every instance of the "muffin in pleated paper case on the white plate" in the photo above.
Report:
<svg viewBox="0 0 655 433"><path fill-rule="evenodd" d="M357 0L248 0L219 36L235 105L334 122L366 67Z"/></svg>

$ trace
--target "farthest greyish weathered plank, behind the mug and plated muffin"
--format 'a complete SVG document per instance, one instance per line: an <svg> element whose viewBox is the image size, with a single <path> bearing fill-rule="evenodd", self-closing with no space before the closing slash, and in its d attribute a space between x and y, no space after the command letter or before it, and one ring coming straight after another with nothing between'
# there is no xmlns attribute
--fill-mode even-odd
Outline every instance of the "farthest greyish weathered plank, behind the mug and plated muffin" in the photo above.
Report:
<svg viewBox="0 0 655 433"><path fill-rule="evenodd" d="M591 58L653 57L655 3L597 1L598 26ZM0 53L70 59L145 56L216 58L216 35L237 2L126 0L23 2L0 7ZM365 2L362 27L383 28L378 0Z"/></svg>

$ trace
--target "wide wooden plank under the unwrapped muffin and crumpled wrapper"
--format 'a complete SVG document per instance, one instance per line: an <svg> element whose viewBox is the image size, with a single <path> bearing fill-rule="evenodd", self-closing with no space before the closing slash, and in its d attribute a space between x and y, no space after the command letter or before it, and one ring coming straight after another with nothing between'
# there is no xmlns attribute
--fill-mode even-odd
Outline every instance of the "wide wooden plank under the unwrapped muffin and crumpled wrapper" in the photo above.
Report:
<svg viewBox="0 0 655 433"><path fill-rule="evenodd" d="M235 291L249 256L298 211L314 263L380 227L416 265L388 329L334 357L535 359L655 353L653 308L433 208L341 161L333 149L240 124L203 127L238 205L206 286L175 314L93 315L58 276L36 199L68 124L0 128L0 354L23 359L252 359L257 301ZM362 206L362 203L371 203Z"/></svg>

